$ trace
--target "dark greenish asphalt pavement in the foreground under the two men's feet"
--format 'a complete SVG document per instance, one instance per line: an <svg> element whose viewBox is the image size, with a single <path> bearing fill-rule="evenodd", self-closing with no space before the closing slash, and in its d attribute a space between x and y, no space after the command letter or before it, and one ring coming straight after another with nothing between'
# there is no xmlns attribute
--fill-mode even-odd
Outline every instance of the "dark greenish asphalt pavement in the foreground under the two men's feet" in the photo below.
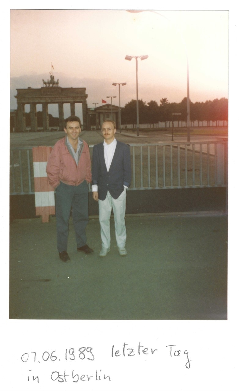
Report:
<svg viewBox="0 0 239 391"><path fill-rule="evenodd" d="M94 253L59 259L56 220L10 224L11 319L224 320L227 218L223 214L126 216L128 254L99 257L97 218L87 226Z"/></svg>

